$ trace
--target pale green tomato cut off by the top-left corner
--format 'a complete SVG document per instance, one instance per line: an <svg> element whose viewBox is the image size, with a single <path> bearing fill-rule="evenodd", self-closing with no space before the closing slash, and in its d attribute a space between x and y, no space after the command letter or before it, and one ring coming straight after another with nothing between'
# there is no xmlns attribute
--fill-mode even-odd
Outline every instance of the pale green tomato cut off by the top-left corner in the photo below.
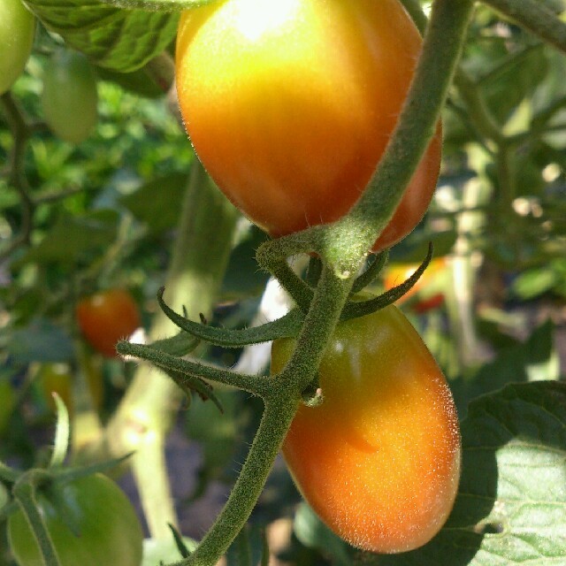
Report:
<svg viewBox="0 0 566 566"><path fill-rule="evenodd" d="M0 95L23 72L34 44L35 19L20 0L0 0Z"/></svg>

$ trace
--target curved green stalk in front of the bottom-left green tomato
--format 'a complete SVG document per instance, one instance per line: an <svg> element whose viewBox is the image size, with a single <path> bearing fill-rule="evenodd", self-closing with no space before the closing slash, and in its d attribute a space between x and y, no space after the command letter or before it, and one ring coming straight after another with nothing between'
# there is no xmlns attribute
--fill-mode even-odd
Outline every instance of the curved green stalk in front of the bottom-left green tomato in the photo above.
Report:
<svg viewBox="0 0 566 566"><path fill-rule="evenodd" d="M45 474L41 470L32 470L25 473L14 485L13 495L34 533L34 539L42 555L43 565L61 566L50 533L35 500L35 487L44 478Z"/></svg>

